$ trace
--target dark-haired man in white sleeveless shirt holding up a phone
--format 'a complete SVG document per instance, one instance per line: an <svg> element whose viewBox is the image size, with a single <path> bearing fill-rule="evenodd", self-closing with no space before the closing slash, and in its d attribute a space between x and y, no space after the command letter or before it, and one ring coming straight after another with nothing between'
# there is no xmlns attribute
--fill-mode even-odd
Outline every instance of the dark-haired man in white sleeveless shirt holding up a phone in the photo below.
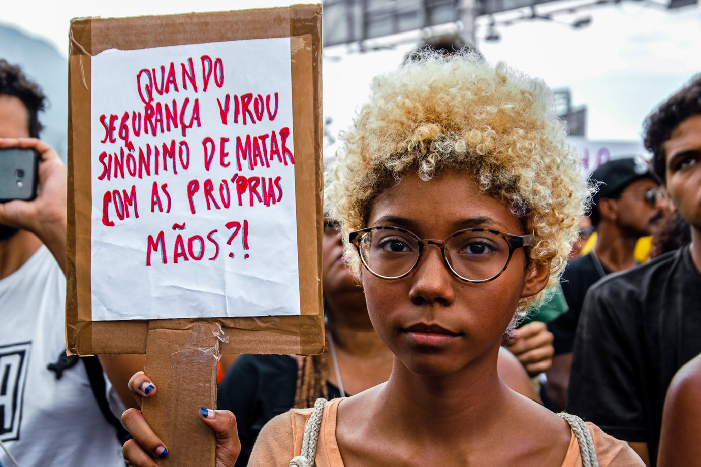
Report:
<svg viewBox="0 0 701 467"><path fill-rule="evenodd" d="M88 364L66 357L66 169L36 139L44 99L0 60L0 148L40 155L36 199L0 203L0 465L123 467Z"/></svg>

